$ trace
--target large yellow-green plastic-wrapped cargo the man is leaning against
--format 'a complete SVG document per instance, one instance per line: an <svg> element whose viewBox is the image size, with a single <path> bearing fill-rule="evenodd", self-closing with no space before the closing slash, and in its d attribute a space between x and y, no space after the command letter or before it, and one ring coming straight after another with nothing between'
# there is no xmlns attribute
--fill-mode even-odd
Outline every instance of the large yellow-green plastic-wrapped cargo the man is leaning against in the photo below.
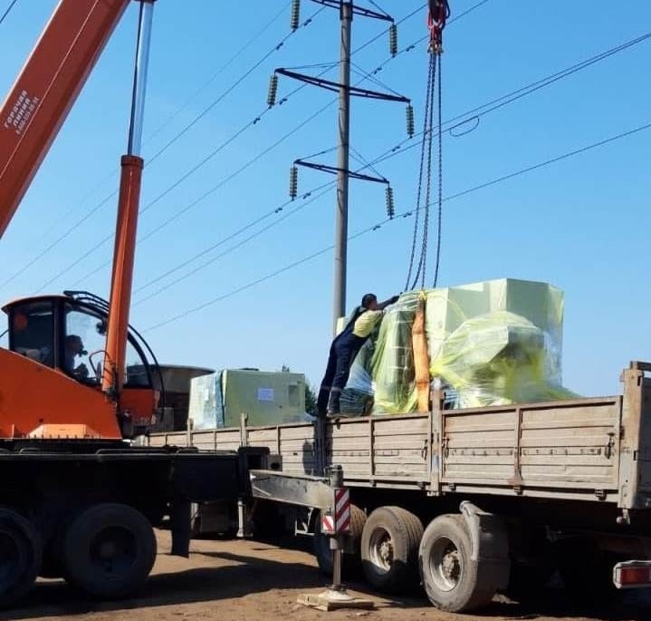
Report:
<svg viewBox="0 0 651 621"><path fill-rule="evenodd" d="M425 335L414 325L423 299ZM511 278L403 294L352 365L342 411L368 412L372 400L374 414L415 412L415 344L454 407L574 396L561 385L562 317L560 289Z"/></svg>

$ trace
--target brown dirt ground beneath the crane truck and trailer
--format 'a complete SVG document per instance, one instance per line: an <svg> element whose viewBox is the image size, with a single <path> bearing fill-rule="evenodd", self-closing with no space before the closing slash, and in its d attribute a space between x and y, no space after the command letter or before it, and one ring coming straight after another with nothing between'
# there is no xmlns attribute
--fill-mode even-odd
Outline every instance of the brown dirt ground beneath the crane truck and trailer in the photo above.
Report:
<svg viewBox="0 0 651 621"><path fill-rule="evenodd" d="M169 535L158 533L159 555L148 584L139 594L120 602L97 603L82 597L59 580L43 580L14 610L0 613L0 621L293 621L297 619L369 618L382 621L459 621L483 618L651 619L651 597L627 593L607 608L589 609L568 601L560 590L541 593L537 603L521 605L496 597L481 616L449 615L428 606L424 597L379 597L362 583L351 590L376 602L369 613L323 613L296 603L302 593L319 593L326 579L316 568L306 539L289 539L284 548L258 541L198 540L189 559L168 556ZM288 548L291 546L292 548Z"/></svg>

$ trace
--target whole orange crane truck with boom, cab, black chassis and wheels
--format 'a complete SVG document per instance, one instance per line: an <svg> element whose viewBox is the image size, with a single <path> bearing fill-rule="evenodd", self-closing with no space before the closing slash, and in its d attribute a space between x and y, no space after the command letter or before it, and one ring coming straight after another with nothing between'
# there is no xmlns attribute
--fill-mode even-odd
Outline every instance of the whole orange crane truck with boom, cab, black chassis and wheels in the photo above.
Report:
<svg viewBox="0 0 651 621"><path fill-rule="evenodd" d="M129 328L154 2L139 0L110 301L67 292L4 307L0 607L23 597L39 575L65 577L96 597L129 595L156 558L153 527L168 516L172 553L187 556L190 503L235 505L249 489L250 462L262 464L268 452L146 449L126 441L151 422L160 396L158 364ZM128 5L61 0L7 95L0 108L0 237ZM76 364L93 339L88 364ZM156 387L163 388L162 377Z"/></svg>

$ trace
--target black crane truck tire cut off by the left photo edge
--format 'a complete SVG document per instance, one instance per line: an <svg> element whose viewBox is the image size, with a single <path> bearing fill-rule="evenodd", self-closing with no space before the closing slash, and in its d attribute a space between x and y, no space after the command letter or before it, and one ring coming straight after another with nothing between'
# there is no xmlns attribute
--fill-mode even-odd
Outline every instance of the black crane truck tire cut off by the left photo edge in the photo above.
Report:
<svg viewBox="0 0 651 621"><path fill-rule="evenodd" d="M41 569L41 543L32 523L0 507L0 608L12 606L32 587Z"/></svg>

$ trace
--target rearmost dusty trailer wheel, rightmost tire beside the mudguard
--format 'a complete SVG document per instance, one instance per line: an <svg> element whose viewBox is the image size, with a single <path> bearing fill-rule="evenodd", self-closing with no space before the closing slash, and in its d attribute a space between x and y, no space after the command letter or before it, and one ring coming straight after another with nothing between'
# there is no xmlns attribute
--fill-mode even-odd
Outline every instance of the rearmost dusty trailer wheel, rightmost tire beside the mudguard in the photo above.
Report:
<svg viewBox="0 0 651 621"><path fill-rule="evenodd" d="M479 578L472 546L461 515L442 515L427 526L418 565L427 598L439 610L476 610L493 599L496 588Z"/></svg>

